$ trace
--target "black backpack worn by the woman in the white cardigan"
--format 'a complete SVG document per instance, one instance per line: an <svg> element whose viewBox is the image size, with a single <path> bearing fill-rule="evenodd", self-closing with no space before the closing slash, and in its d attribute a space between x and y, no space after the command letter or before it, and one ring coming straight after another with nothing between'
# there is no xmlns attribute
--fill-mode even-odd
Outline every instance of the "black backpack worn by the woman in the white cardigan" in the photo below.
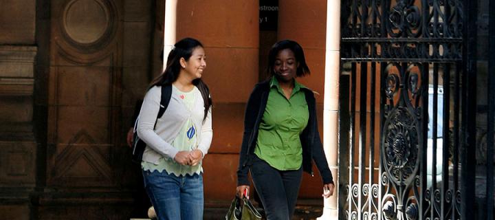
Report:
<svg viewBox="0 0 495 220"><path fill-rule="evenodd" d="M155 126L158 118L162 118L163 113L168 107L168 103L170 102L170 97L172 97L172 85L164 85L162 86L162 98L160 99L160 108L158 111L157 119L155 120ZM133 134L133 155L132 161L141 164L142 155L144 153L144 148L146 148L146 143L139 136L137 136L137 121L139 117L135 120L134 123L134 134ZM155 129L153 127L153 129Z"/></svg>

